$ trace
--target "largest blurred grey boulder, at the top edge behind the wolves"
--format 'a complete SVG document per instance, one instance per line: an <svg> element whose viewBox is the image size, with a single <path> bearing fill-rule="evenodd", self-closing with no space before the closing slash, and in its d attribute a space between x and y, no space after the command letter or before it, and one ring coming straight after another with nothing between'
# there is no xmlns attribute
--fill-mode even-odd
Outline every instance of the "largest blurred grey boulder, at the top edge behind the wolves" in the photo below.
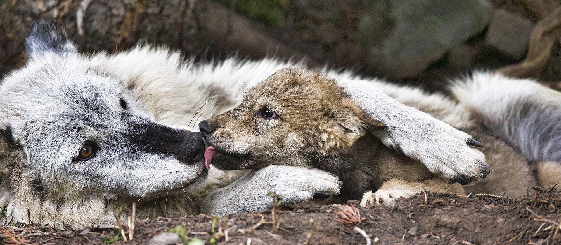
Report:
<svg viewBox="0 0 561 245"><path fill-rule="evenodd" d="M488 25L488 0L379 0L358 18L375 72L411 77Z"/></svg>

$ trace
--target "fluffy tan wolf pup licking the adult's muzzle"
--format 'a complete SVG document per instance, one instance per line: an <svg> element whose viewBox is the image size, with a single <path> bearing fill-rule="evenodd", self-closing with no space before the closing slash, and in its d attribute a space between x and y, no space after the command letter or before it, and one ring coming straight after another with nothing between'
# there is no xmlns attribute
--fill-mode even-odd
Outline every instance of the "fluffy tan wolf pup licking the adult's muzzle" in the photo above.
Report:
<svg viewBox="0 0 561 245"><path fill-rule="evenodd" d="M479 140L494 173L464 189L458 183L447 183L420 162L403 156L400 149L383 145L373 135L386 125L366 116L335 81L308 70L274 73L252 89L240 106L201 122L200 129L215 148L212 162L220 169L270 164L320 168L343 181L340 201L362 198L363 205L393 204L401 196L424 190L518 197L536 184L525 157L484 131L475 110L452 100L439 98L434 103L430 96L412 97L420 99L410 98L406 105L461 127ZM463 115L454 115L459 112ZM458 121L458 117L464 120ZM550 171L558 163L549 164L553 167L537 164L538 175L544 179L541 183L558 181Z"/></svg>

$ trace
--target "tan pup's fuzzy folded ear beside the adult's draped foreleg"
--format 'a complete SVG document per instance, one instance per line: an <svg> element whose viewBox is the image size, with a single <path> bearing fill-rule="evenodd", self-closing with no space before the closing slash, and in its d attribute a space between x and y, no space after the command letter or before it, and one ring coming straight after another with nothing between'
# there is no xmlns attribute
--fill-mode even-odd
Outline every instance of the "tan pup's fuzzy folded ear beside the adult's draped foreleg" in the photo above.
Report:
<svg viewBox="0 0 561 245"><path fill-rule="evenodd" d="M330 110L327 117L328 126L321 133L325 154L350 147L371 129L387 127L384 122L366 115L350 98L346 98L341 108Z"/></svg>

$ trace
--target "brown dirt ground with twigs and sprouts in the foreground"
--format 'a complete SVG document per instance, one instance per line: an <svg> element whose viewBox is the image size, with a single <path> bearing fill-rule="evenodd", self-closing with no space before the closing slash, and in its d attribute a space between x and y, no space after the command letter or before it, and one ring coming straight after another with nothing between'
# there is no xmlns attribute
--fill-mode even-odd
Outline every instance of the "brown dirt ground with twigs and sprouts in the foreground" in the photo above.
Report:
<svg viewBox="0 0 561 245"><path fill-rule="evenodd" d="M357 201L349 204L360 206ZM561 244L561 191L557 189L518 200L424 193L399 201L393 208L358 208L360 218L347 219L360 220L354 224L341 222L345 219L340 207L315 205L276 210L277 230L270 223L271 210L222 218L200 214L137 220L132 241L119 238L112 244L155 244L151 238L178 225L185 229L184 241L200 238L204 244L367 244L354 227L364 230L372 244ZM55 230L25 224L5 228L0 242L3 244L103 244L103 236L113 238L117 232L95 228ZM128 237L128 229L124 230ZM24 243L16 242L17 237L24 238Z"/></svg>

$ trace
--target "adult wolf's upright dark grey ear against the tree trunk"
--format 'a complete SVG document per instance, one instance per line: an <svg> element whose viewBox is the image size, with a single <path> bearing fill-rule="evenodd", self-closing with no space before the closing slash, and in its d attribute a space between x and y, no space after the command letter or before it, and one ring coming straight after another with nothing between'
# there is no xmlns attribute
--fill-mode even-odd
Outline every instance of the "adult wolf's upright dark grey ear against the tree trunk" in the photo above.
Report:
<svg viewBox="0 0 561 245"><path fill-rule="evenodd" d="M58 27L56 21L37 21L31 25L31 31L25 40L30 59L37 59L47 53L65 55L75 52L76 48L67 40L65 31Z"/></svg>

